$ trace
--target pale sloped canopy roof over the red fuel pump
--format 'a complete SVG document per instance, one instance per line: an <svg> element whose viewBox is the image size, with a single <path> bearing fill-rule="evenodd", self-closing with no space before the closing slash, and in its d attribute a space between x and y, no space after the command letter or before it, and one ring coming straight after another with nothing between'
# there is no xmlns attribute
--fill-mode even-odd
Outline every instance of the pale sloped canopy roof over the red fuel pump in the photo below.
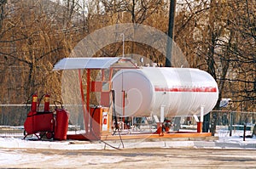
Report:
<svg viewBox="0 0 256 169"><path fill-rule="evenodd" d="M121 58L64 58L58 61L53 70L75 70L75 69L108 69Z"/></svg>

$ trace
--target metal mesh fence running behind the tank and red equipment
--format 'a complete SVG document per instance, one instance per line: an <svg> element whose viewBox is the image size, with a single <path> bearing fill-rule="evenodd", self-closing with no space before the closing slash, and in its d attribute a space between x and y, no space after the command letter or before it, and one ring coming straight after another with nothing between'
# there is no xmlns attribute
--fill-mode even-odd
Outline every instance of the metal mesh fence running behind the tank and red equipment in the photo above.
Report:
<svg viewBox="0 0 256 169"><path fill-rule="evenodd" d="M23 124L30 106L29 104L0 104L0 137L23 136ZM215 135L218 137L242 136L244 124L247 125L246 135L252 135L256 123L256 112L212 111L210 112L210 127L213 121L216 121ZM183 117L181 129L196 131L194 118Z"/></svg>

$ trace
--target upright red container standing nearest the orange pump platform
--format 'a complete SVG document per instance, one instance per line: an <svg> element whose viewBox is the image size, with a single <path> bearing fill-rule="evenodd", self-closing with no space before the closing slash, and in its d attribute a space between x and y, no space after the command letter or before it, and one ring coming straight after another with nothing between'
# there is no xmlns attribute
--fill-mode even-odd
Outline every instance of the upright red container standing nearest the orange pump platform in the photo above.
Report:
<svg viewBox="0 0 256 169"><path fill-rule="evenodd" d="M67 129L68 129L68 116L69 113L65 110L62 105L61 109L56 110L56 121L55 121L55 136L57 140L67 139Z"/></svg>

